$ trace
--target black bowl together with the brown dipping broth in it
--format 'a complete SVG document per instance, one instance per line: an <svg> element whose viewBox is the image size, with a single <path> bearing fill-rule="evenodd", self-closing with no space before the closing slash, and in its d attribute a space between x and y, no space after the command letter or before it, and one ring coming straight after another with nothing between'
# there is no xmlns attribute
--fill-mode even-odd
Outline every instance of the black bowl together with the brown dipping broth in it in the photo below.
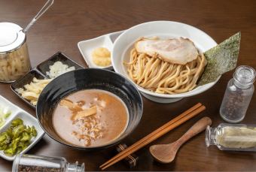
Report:
<svg viewBox="0 0 256 172"><path fill-rule="evenodd" d="M142 98L130 80L96 68L69 71L51 81L38 98L44 131L80 149L112 146L127 137L142 117Z"/></svg>

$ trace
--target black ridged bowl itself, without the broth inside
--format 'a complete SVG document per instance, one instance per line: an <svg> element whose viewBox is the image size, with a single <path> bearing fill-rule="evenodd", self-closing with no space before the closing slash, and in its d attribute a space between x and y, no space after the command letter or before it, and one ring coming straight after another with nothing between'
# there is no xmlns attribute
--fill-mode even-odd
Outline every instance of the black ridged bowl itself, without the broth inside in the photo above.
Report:
<svg viewBox="0 0 256 172"><path fill-rule="evenodd" d="M117 140L108 143L104 146L76 146L72 143L63 140L53 128L53 111L58 104L58 102L71 94L83 89L102 89L108 92L112 92L123 100L129 110L129 123L126 130ZM113 146L119 143L120 140L127 137L139 124L142 118L142 97L139 94L136 86L133 85L125 77L120 74L116 74L113 71L96 69L96 68L86 68L76 71L69 71L66 74L62 74L51 81L41 92L38 98L38 104L36 107L36 115L38 117L38 122L44 131L59 143L65 144L67 146L72 146L79 149L100 149L107 148L108 146Z"/></svg>

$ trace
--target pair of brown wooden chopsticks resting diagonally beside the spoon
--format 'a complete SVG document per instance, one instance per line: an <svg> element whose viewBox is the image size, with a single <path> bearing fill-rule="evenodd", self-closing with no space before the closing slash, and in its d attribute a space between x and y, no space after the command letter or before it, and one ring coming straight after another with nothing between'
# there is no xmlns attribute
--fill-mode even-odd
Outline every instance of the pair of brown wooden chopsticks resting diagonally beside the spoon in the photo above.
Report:
<svg viewBox="0 0 256 172"><path fill-rule="evenodd" d="M203 104L196 104L194 107L191 107L190 109L184 111L184 113L181 113L179 116L175 117L171 121L167 122L165 125L161 126L160 128L157 128L155 131L151 132L151 134L148 134L147 136L143 137L141 140L134 143L132 146L124 149L122 152L115 155L110 160L106 161L104 164L99 166L102 170L105 170L107 167L110 167L112 164L117 163L118 161L122 160L123 158L126 158L126 156L132 154L133 152L136 152L137 150L141 149L143 146L146 146L148 143L151 143L152 141L156 140L158 137L161 137L163 134L166 134L167 132L171 131L173 128L178 127L178 125L183 124L188 119L193 118L203 110L205 110L206 107L203 106Z"/></svg>

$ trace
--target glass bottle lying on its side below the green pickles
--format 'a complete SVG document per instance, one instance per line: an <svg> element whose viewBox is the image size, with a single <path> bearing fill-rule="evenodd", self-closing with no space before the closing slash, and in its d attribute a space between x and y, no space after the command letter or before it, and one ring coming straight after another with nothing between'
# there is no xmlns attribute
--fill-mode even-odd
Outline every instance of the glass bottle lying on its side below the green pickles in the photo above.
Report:
<svg viewBox="0 0 256 172"><path fill-rule="evenodd" d="M66 161L62 157L49 157L41 155L17 155L13 163L13 172L84 172L84 163L79 165Z"/></svg>

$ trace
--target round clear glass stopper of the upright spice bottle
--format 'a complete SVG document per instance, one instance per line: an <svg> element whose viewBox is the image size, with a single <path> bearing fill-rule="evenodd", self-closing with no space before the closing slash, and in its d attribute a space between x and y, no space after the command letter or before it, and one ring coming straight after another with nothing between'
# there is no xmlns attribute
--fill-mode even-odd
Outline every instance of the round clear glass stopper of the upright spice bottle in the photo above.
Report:
<svg viewBox="0 0 256 172"><path fill-rule="evenodd" d="M251 84L254 83L255 80L255 70L247 65L240 65L236 68L236 72L234 73L234 78L239 83Z"/></svg>

